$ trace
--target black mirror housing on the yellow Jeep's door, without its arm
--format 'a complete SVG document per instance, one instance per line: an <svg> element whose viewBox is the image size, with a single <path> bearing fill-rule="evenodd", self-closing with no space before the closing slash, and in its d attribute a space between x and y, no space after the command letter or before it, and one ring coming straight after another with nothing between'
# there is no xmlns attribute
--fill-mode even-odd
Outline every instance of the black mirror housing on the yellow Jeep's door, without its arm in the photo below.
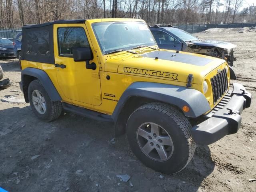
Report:
<svg viewBox="0 0 256 192"><path fill-rule="evenodd" d="M90 47L77 47L73 48L72 51L75 62L90 61L93 59L93 54Z"/></svg>

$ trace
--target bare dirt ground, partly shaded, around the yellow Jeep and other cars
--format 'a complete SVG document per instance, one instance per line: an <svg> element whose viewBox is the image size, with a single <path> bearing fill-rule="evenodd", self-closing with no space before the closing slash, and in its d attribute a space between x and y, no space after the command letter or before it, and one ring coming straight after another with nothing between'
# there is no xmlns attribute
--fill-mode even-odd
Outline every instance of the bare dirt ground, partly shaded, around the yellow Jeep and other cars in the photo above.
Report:
<svg viewBox="0 0 256 192"><path fill-rule="evenodd" d="M113 144L113 125L66 113L54 122L38 120L28 104L0 101L0 186L10 192L216 192L256 191L256 33L207 32L201 39L237 45L234 71L253 96L238 133L197 146L181 172L161 174L132 154L125 136ZM0 99L22 99L17 59L0 60L13 84ZM35 156L38 155L37 158ZM32 160L31 158L35 159ZM122 182L118 174L131 176Z"/></svg>

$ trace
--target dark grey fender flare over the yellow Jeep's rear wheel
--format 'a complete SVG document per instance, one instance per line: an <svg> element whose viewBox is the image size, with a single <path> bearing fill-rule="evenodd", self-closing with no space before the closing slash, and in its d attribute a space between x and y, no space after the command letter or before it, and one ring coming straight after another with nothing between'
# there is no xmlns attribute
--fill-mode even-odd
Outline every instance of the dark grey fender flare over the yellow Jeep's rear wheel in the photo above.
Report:
<svg viewBox="0 0 256 192"><path fill-rule="evenodd" d="M31 82L31 81L27 82L26 76L35 77L38 80L40 80L40 82L44 86L44 89L46 90L46 92L48 93L48 95L52 101L61 101L62 100L60 97L60 94L56 90L50 77L48 76L48 74L45 71L43 71L41 69L37 69L37 68L28 67L28 68L25 68L24 70L22 70L22 72L21 72L21 82L22 82L22 88L23 88L24 98L25 98L26 102L28 102L28 92L27 92L28 85Z"/></svg>

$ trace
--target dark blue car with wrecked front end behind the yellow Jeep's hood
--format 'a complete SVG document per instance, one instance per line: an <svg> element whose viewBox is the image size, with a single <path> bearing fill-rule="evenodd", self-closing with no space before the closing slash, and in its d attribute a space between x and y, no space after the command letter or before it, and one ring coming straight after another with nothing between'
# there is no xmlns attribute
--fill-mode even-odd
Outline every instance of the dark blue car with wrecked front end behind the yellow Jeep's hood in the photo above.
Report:
<svg viewBox="0 0 256 192"><path fill-rule="evenodd" d="M170 24L157 24L149 26L158 47L208 55L224 59L233 66L234 51L236 45L216 40L200 40L184 30L173 27Z"/></svg>

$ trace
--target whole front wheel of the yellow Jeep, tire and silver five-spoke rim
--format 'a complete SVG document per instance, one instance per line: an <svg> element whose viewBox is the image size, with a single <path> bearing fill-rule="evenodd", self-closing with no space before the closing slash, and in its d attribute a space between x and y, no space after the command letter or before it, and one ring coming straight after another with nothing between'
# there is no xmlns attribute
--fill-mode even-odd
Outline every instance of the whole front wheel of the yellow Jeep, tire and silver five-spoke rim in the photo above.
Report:
<svg viewBox="0 0 256 192"><path fill-rule="evenodd" d="M194 155L191 124L174 106L149 103L136 109L126 124L126 135L136 157L163 173L181 171Z"/></svg>

